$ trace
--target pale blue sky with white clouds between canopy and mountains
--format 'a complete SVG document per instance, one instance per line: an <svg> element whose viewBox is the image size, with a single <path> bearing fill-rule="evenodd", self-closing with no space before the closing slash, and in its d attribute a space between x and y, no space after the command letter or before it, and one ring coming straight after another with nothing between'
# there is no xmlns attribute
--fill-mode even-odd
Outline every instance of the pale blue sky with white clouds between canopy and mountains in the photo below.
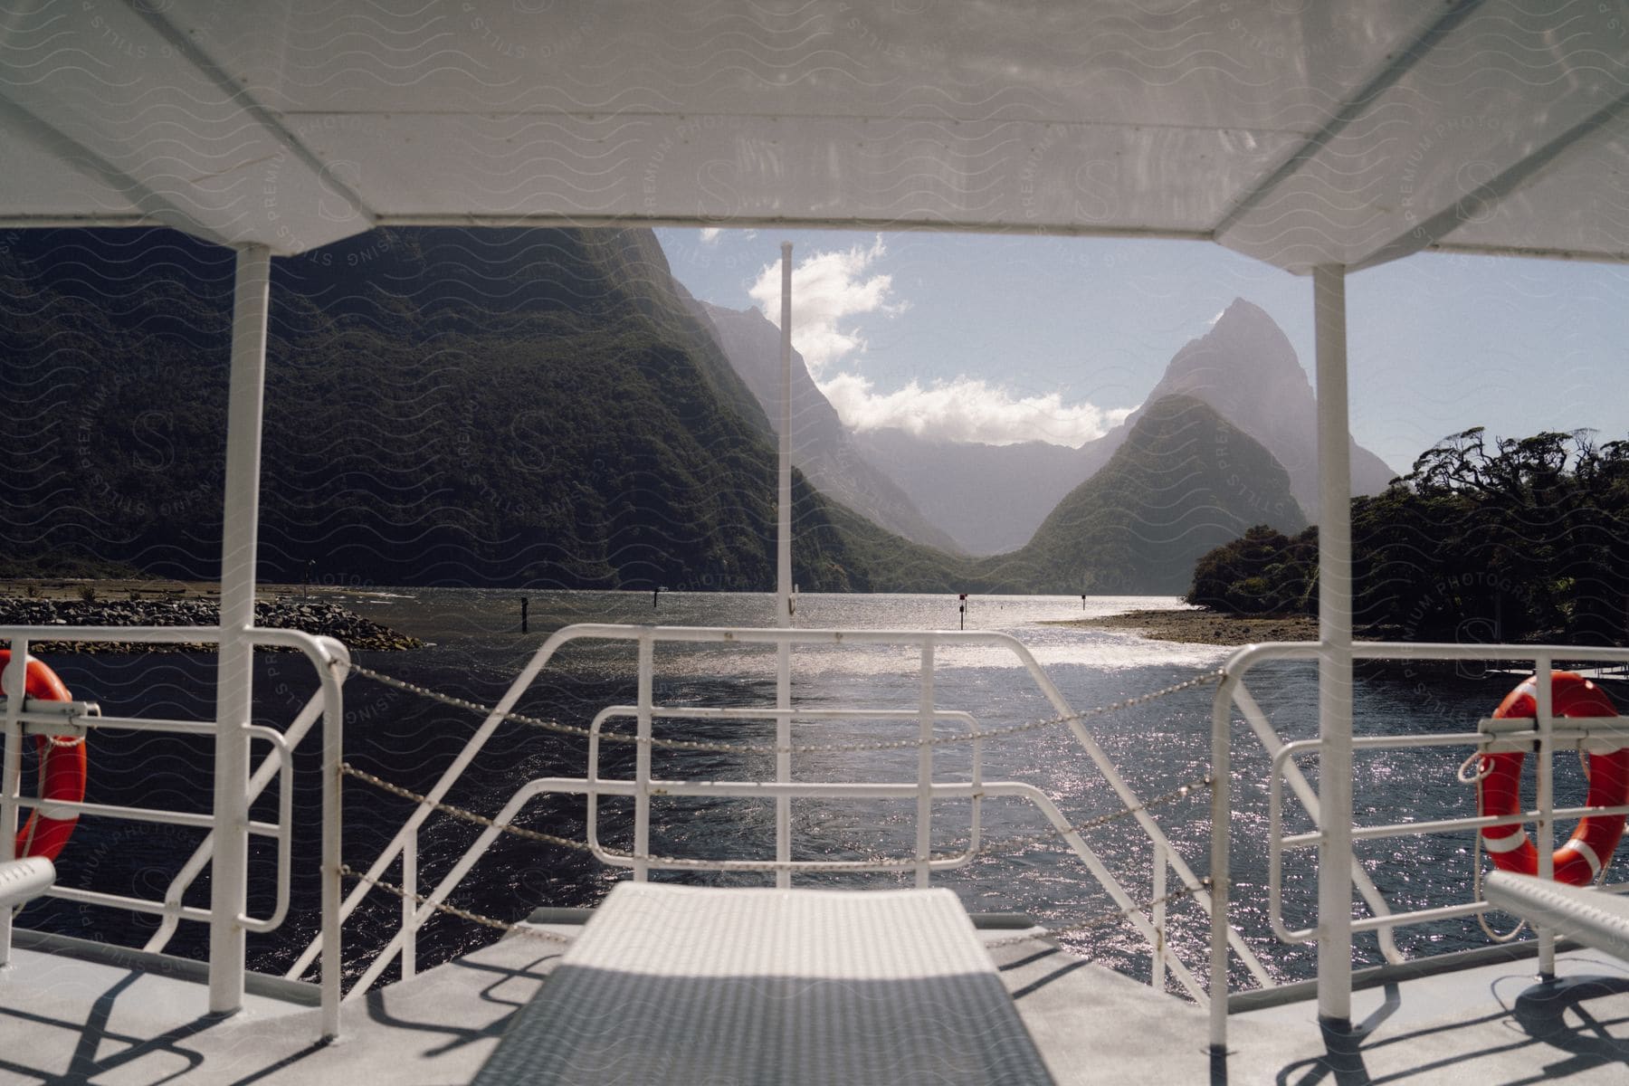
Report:
<svg viewBox="0 0 1629 1086"><path fill-rule="evenodd" d="M1235 296L1313 370L1311 280L1184 241L658 230L705 301L779 317L855 425L1078 444L1153 389ZM1424 254L1347 280L1352 431L1398 471L1474 425L1629 436L1629 269Z"/></svg>

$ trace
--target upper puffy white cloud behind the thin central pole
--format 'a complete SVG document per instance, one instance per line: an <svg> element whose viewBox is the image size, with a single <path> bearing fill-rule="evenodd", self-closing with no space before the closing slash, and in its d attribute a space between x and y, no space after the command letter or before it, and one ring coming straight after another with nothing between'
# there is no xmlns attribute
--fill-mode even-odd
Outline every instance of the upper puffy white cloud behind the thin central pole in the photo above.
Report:
<svg viewBox="0 0 1629 1086"><path fill-rule="evenodd" d="M816 378L837 360L865 350L849 322L863 313L904 313L893 298L893 277L870 274L888 251L881 236L870 247L814 252L792 269L792 345ZM748 290L764 316L780 327L780 264L769 264Z"/></svg>

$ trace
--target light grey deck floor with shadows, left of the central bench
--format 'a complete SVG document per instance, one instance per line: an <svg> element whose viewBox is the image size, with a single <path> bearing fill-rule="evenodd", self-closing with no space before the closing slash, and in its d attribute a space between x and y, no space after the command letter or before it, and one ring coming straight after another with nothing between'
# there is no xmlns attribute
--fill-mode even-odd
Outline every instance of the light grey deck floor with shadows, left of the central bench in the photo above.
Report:
<svg viewBox="0 0 1629 1086"><path fill-rule="evenodd" d="M469 1083L564 949L510 935L347 1003L340 1040L324 1045L314 1006L249 995L238 1014L212 1016L197 980L13 948L0 1084Z"/></svg>

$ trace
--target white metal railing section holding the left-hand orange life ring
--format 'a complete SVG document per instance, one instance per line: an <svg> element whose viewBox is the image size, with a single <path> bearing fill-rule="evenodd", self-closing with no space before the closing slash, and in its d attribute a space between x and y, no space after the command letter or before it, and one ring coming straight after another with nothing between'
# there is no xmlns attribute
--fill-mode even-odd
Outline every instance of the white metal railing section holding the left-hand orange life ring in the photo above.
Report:
<svg viewBox="0 0 1629 1086"><path fill-rule="evenodd" d="M0 640L10 642L11 663L5 676L10 690L24 689L24 668L28 666L28 648L34 640L52 642L112 642L125 645L215 645L223 637L222 627L0 627ZM279 777L279 819L272 822L246 821L239 825L222 825L217 814L199 814L189 811L163 811L156 808L129 808L99 803L67 803L52 799L49 808L54 812L75 812L93 817L114 817L138 822L156 822L169 825L189 825L207 829L209 837L182 866L181 874L171 882L163 900L140 899L124 894L108 894L101 891L83 891L75 887L54 886L46 894L90 905L106 905L134 912L155 913L163 917L165 926L155 936L155 949L168 943L174 925L181 920L210 923L215 912L184 905L181 896L187 884L204 869L213 848L225 830L257 834L277 840L277 904L269 917L251 917L241 913L233 917L233 923L246 931L272 931L282 925L288 913L288 884L292 876L290 837L293 832L293 749L310 731L313 723L323 721L323 848L321 848L321 886L323 886L323 930L319 935L319 951L323 954L323 970L318 982L321 993L321 1029L324 1037L339 1034L339 996L340 996L340 926L339 915L339 879L340 879L340 822L339 822L339 764L342 760L344 694L342 682L350 666L350 655L345 646L329 637L316 637L301 630L282 628L249 628L244 632L252 645L282 646L301 651L311 663L318 677L318 692L301 710L295 725L279 733L262 725L244 726L244 734L264 739L272 751L256 769L252 778L246 782L244 809ZM42 806L36 798L21 795L21 741L33 729L52 728L109 728L137 731L166 731L176 734L213 736L220 731L213 720L155 720L135 716L91 716L78 715L65 721L62 708L52 708L49 702L37 698L11 697L3 698L3 755L0 755L0 861L10 860L16 848L18 811ZM57 703L62 705L62 703ZM72 705L72 703L70 703ZM332 918L332 923L331 923ZM0 910L0 964L7 961L11 946L11 913ZM243 962L236 962L241 970ZM212 970L215 966L212 964Z"/></svg>

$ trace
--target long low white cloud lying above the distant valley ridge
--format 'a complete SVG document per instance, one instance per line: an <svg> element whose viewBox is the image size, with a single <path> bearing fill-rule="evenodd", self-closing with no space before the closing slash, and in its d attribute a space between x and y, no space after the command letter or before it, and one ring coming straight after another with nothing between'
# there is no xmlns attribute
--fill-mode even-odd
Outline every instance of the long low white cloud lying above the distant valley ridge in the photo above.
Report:
<svg viewBox="0 0 1629 1086"><path fill-rule="evenodd" d="M894 392L876 392L857 373L839 373L819 383L837 415L854 430L896 427L945 441L1051 441L1078 446L1103 436L1132 409L1103 410L1091 404L1064 404L1062 396L1013 396L979 378L959 376L922 388L915 381Z"/></svg>

